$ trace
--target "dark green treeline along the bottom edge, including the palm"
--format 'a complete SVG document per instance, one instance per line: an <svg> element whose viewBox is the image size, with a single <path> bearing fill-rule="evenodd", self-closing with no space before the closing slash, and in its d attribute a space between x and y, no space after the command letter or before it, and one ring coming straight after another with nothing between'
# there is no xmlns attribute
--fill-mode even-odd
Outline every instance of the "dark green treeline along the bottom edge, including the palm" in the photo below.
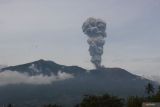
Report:
<svg viewBox="0 0 160 107"><path fill-rule="evenodd" d="M79 104L74 107L142 107L143 102L160 102L160 86L155 92L153 84L145 86L147 96L129 96L127 99L109 94L104 95L85 95ZM7 107L15 107L9 104ZM48 104L42 107L62 107L61 105Z"/></svg>

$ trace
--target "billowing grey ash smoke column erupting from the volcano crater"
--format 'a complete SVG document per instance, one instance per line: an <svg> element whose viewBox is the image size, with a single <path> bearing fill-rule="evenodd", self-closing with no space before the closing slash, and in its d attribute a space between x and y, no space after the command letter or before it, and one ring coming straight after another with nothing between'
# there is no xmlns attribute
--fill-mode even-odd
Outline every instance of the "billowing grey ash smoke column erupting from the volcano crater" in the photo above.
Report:
<svg viewBox="0 0 160 107"><path fill-rule="evenodd" d="M105 44L106 23L101 19L88 18L82 26L84 34L89 38L89 52L91 55L91 62L96 68L101 67L101 56L103 54L103 45Z"/></svg>

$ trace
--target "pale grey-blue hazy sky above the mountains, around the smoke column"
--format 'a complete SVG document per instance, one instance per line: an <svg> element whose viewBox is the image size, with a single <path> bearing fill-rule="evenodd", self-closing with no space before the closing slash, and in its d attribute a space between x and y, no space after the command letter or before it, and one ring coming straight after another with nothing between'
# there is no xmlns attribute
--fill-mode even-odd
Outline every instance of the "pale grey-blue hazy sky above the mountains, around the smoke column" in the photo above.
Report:
<svg viewBox="0 0 160 107"><path fill-rule="evenodd" d="M88 17L107 23L102 65L160 76L159 0L0 0L0 65L39 59L93 69Z"/></svg>

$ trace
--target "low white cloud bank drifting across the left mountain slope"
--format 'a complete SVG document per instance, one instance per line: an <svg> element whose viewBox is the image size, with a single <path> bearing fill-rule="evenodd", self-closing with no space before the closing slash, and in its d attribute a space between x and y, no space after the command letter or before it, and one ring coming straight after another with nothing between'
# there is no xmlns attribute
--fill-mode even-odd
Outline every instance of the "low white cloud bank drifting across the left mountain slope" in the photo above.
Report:
<svg viewBox="0 0 160 107"><path fill-rule="evenodd" d="M62 71L59 71L57 75L52 74L51 76L44 76L43 74L29 76L27 73L20 73L17 71L4 71L0 73L0 86L9 84L51 84L55 81L61 81L73 77L74 76L72 74L68 74Z"/></svg>

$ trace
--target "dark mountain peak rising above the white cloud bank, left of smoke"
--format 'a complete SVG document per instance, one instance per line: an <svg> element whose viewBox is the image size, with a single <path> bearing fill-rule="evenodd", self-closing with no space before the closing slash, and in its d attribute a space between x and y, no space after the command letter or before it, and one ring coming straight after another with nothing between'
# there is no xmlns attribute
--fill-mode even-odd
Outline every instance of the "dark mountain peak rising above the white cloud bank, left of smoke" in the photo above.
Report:
<svg viewBox="0 0 160 107"><path fill-rule="evenodd" d="M28 73L30 76L39 75L39 74L50 76L52 73L57 74L58 71L79 75L81 73L85 73L86 71L85 69L78 66L64 66L64 65L56 64L53 61L45 61L43 59L31 62L31 63L27 63L27 64L2 68L0 72L6 71L6 70L18 71L20 73Z"/></svg>

